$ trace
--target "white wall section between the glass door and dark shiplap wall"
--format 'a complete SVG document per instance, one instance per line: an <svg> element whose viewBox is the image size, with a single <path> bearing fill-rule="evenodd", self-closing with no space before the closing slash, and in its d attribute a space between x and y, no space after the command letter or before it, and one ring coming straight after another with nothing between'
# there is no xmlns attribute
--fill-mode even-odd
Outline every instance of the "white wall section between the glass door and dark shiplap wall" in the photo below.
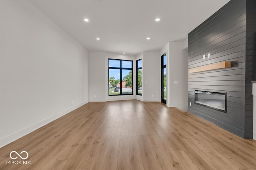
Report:
<svg viewBox="0 0 256 170"><path fill-rule="evenodd" d="M188 110L188 52L183 50L186 44L186 39L169 42L160 51L160 55L167 55L166 106L183 111Z"/></svg>

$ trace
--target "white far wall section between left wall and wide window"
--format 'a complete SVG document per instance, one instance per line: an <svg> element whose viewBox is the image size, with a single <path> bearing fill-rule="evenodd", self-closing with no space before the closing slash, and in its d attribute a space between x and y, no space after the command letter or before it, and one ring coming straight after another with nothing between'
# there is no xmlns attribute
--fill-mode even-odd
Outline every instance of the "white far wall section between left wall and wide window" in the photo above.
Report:
<svg viewBox="0 0 256 170"><path fill-rule="evenodd" d="M89 52L90 102L106 102L106 53Z"/></svg>

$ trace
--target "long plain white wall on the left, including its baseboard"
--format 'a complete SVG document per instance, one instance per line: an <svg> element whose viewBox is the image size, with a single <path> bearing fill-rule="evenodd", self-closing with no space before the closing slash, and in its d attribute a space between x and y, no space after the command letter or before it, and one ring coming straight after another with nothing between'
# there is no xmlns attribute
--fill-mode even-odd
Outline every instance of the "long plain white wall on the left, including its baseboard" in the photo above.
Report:
<svg viewBox="0 0 256 170"><path fill-rule="evenodd" d="M28 1L0 1L0 145L88 102L88 51Z"/></svg>

